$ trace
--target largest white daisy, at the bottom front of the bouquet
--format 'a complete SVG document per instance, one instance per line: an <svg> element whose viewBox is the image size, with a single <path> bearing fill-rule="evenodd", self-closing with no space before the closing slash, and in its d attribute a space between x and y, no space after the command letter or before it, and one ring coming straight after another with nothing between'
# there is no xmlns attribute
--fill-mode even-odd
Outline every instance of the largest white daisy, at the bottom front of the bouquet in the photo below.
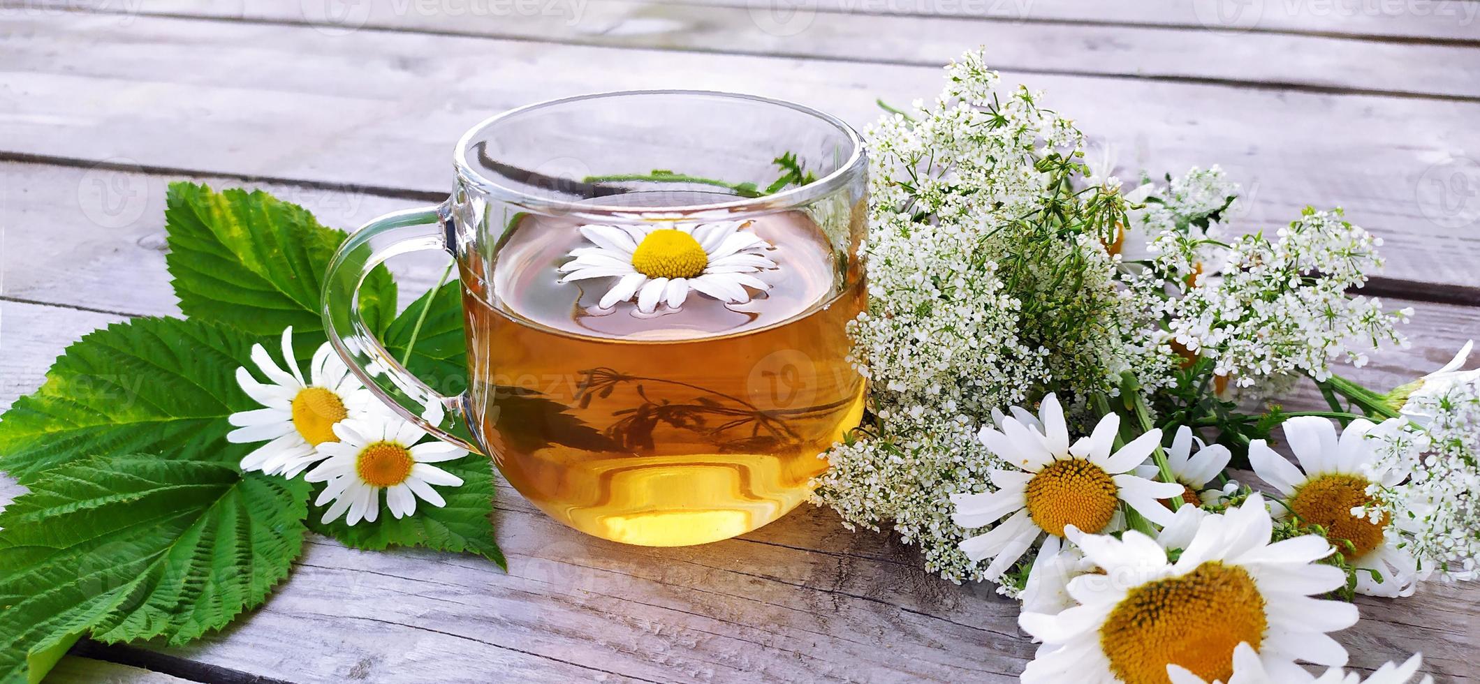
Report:
<svg viewBox="0 0 1480 684"><path fill-rule="evenodd" d="M1168 665L1228 681L1234 650L1248 643L1276 681L1299 681L1295 660L1341 666L1347 650L1326 635L1357 622L1357 607L1311 598L1345 583L1341 569L1314 561L1332 548L1317 534L1270 543L1273 521L1259 494L1206 515L1175 563L1151 537L1125 532L1076 534L1104 570L1069 583L1079 606L1058 614L1023 613L1043 640L1023 672L1035 683L1168 681Z"/></svg>

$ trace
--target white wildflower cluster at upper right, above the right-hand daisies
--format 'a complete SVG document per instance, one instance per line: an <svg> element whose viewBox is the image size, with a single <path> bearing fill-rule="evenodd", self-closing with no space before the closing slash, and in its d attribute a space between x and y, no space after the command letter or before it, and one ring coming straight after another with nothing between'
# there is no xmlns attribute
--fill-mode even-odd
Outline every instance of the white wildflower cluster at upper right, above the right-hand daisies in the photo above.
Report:
<svg viewBox="0 0 1480 684"><path fill-rule="evenodd" d="M1385 312L1378 299L1345 293L1382 265L1379 244L1339 210L1307 209L1277 240L1251 234L1233 241L1220 275L1169 302L1171 332L1239 386L1294 375L1325 380L1332 360L1360 367L1382 343L1407 345L1396 326L1410 309ZM1163 253L1169 271L1187 268L1178 252Z"/></svg>

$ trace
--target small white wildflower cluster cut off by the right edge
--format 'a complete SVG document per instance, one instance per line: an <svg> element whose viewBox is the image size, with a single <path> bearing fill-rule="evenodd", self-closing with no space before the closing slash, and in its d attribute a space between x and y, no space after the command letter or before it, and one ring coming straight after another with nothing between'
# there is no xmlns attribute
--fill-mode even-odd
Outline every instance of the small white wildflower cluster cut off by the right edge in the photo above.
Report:
<svg viewBox="0 0 1480 684"><path fill-rule="evenodd" d="M1409 552L1449 580L1480 579L1480 373L1459 382L1421 380L1403 404L1400 429L1375 438L1379 465L1407 468L1406 483L1372 492L1382 514L1412 536Z"/></svg>

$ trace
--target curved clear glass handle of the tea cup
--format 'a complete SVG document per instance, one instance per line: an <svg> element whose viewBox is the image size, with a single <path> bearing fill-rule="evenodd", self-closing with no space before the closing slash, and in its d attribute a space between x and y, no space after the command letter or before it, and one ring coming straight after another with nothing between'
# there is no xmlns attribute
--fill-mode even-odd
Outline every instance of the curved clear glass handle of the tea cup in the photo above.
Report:
<svg viewBox="0 0 1480 684"><path fill-rule="evenodd" d="M382 403L438 440L482 453L477 444L443 428L466 420L463 397L445 397L413 376L376 339L360 314L360 286L370 269L407 252L447 250L444 227L448 218L447 204L408 209L380 216L349 235L324 275L320 298L324 332L349 372Z"/></svg>

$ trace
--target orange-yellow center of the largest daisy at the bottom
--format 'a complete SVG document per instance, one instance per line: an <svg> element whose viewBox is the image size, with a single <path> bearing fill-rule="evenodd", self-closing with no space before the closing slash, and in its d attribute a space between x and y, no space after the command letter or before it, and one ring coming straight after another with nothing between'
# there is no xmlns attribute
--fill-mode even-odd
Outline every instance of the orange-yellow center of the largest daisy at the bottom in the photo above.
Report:
<svg viewBox="0 0 1480 684"><path fill-rule="evenodd" d="M1166 684L1177 663L1205 681L1233 677L1233 648L1259 650L1264 597L1242 567L1208 561L1181 576L1131 589L1100 628L1110 671L1126 684Z"/></svg>

